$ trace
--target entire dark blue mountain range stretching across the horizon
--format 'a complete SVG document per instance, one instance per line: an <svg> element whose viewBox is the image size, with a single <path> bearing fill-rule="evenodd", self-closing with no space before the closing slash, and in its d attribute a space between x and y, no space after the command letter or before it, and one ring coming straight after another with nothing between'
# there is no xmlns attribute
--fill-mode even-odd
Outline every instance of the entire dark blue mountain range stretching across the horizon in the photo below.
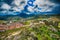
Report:
<svg viewBox="0 0 60 40"><path fill-rule="evenodd" d="M7 20L8 18L10 18L10 17L21 17L21 18L29 18L29 17L34 17L34 16L36 16L36 17L38 17L38 16L54 16L54 15L60 15L60 14L55 14L55 13L50 13L50 12L40 12L40 13L32 13L32 14L26 14L26 13L19 13L19 14L16 14L16 15L12 15L12 14L0 14L0 20Z"/></svg>

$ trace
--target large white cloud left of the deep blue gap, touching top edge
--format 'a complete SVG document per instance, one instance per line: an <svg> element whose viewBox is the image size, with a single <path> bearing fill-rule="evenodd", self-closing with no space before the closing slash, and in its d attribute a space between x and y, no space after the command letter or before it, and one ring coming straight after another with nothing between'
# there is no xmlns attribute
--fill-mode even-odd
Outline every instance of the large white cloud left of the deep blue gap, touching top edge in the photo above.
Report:
<svg viewBox="0 0 60 40"><path fill-rule="evenodd" d="M13 8L15 8L16 11L24 10L26 4L27 4L27 0L14 0L12 2L12 5L15 5L13 6Z"/></svg>

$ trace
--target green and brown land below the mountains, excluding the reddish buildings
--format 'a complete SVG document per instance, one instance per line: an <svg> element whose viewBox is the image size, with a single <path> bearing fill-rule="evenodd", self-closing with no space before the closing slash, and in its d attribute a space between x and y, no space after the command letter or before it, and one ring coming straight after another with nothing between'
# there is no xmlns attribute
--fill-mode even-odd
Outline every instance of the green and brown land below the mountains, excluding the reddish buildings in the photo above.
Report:
<svg viewBox="0 0 60 40"><path fill-rule="evenodd" d="M60 40L60 16L19 18L0 20L0 24L20 22L20 28L0 32L0 40Z"/></svg>

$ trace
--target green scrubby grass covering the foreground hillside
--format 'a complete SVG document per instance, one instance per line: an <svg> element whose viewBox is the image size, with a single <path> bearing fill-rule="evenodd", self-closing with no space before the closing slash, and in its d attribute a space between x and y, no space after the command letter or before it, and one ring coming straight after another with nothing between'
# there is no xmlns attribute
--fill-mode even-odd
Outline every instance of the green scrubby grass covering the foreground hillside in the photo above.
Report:
<svg viewBox="0 0 60 40"><path fill-rule="evenodd" d="M40 19L34 19L34 22L43 20ZM32 20L27 20L26 25L29 25ZM53 28L56 29L53 30ZM51 28L51 29L50 29ZM12 30L6 30L5 32L0 32L0 37L5 36L3 40L9 35L11 35L13 32L21 31L18 35L12 36L12 40L14 40L15 37L19 37L19 40L60 40L60 28L55 26L48 26L48 25L33 25L33 26L24 26L20 28L15 28ZM11 33L11 34L10 34ZM8 38L9 39L9 38ZM10 38L11 39L11 38ZM2 38L0 38L2 40Z"/></svg>

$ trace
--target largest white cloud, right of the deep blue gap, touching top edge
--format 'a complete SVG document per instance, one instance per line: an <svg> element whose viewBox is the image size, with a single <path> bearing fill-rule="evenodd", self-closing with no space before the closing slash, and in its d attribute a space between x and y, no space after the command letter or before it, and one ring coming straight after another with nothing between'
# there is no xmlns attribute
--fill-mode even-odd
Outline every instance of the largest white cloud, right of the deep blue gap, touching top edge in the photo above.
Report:
<svg viewBox="0 0 60 40"><path fill-rule="evenodd" d="M49 0L36 0L34 3L34 5L38 5L39 8L41 8L41 10L39 10L40 12L47 12L47 11L51 11L52 8L50 8L49 6L54 6L54 3L51 3Z"/></svg>

